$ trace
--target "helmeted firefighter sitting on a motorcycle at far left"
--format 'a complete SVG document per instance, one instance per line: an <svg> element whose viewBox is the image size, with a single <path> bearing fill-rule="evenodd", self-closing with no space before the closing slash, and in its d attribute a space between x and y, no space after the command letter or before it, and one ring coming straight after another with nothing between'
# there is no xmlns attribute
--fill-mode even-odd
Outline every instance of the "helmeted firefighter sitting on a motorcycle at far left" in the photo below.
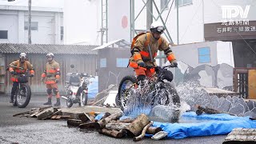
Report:
<svg viewBox="0 0 256 144"><path fill-rule="evenodd" d="M14 82L10 94L10 102L14 102L14 94L18 86L18 75L25 74L26 70L30 70L30 76L34 77L34 68L29 61L26 60L26 54L19 54L19 60L11 62L9 65L9 71L11 74L11 81Z"/></svg>

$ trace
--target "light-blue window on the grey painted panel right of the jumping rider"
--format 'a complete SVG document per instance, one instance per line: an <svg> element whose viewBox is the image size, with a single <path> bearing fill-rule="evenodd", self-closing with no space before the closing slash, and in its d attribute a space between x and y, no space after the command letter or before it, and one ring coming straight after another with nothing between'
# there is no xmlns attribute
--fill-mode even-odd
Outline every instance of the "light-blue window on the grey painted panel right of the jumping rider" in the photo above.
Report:
<svg viewBox="0 0 256 144"><path fill-rule="evenodd" d="M210 62L210 47L198 48L198 61L199 63Z"/></svg>

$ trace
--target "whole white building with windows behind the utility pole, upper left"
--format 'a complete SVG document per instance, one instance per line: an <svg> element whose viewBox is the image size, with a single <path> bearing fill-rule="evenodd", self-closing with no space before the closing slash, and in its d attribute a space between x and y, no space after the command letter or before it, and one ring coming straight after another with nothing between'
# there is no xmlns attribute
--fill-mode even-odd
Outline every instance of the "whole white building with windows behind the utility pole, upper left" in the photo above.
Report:
<svg viewBox="0 0 256 144"><path fill-rule="evenodd" d="M0 43L28 43L28 7L0 6ZM63 10L31 7L32 44L63 44Z"/></svg>

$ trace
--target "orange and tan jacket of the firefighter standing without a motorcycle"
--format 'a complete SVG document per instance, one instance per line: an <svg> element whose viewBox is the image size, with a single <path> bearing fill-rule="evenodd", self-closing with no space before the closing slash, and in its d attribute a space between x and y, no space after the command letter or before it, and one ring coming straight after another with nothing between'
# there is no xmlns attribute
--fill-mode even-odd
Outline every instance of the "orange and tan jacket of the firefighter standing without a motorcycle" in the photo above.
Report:
<svg viewBox="0 0 256 144"><path fill-rule="evenodd" d="M42 78L46 78L46 84L54 84L60 78L60 68L58 62L54 60L46 63L46 70L42 73Z"/></svg>

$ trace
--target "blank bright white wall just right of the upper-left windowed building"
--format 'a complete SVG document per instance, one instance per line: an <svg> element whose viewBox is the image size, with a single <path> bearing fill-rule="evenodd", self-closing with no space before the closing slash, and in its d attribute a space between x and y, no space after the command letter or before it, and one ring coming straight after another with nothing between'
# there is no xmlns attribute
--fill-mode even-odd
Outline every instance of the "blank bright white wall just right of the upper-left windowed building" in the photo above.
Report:
<svg viewBox="0 0 256 144"><path fill-rule="evenodd" d="M100 42L100 1L65 0L64 40L65 44L90 44Z"/></svg>

